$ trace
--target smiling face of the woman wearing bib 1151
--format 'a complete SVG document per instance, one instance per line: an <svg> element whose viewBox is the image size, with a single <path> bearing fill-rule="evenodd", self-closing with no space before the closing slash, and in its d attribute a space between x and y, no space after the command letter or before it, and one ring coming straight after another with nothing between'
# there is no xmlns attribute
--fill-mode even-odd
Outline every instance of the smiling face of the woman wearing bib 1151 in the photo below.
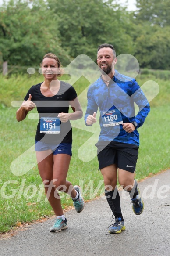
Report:
<svg viewBox="0 0 170 256"><path fill-rule="evenodd" d="M58 62L53 58L44 58L42 63L43 76L48 80L56 80L58 73Z"/></svg>

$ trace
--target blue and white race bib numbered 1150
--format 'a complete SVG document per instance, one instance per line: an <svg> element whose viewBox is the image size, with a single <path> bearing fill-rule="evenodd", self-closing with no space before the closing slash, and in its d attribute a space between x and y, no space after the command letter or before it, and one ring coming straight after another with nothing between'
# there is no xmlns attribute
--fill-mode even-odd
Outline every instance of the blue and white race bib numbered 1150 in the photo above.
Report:
<svg viewBox="0 0 170 256"><path fill-rule="evenodd" d="M123 123L120 111L117 108L101 111L103 126L115 126Z"/></svg>

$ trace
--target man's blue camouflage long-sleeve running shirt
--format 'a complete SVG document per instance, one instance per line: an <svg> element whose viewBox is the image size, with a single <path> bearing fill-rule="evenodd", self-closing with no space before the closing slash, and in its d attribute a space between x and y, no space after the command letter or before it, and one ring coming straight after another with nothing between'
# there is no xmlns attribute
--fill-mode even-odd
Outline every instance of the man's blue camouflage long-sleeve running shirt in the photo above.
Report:
<svg viewBox="0 0 170 256"><path fill-rule="evenodd" d="M107 86L100 77L89 87L87 98L85 123L88 115L93 115L98 108L100 111L99 141L114 140L139 145L138 130L135 129L132 133L127 133L121 124L135 121L139 128L150 111L149 102L135 79L124 76L115 70L109 85ZM135 104L139 108L136 116Z"/></svg>

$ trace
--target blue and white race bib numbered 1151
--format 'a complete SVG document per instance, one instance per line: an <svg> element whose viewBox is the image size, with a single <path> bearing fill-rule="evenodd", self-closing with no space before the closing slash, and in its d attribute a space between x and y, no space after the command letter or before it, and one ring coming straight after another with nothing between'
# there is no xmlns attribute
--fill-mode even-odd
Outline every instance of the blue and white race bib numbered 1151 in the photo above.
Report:
<svg viewBox="0 0 170 256"><path fill-rule="evenodd" d="M59 117L41 117L40 133L59 134L60 124L61 121Z"/></svg>

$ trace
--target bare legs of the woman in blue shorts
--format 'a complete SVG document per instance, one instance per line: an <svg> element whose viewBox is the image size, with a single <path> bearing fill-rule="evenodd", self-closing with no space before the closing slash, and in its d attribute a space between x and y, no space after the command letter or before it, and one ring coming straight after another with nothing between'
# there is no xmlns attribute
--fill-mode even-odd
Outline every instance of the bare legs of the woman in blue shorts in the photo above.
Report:
<svg viewBox="0 0 170 256"><path fill-rule="evenodd" d="M44 182L45 193L54 213L63 215L60 195L57 190L63 191L75 198L77 195L71 182L67 181L67 173L71 156L67 154L53 155L52 151L36 151L39 174Z"/></svg>

